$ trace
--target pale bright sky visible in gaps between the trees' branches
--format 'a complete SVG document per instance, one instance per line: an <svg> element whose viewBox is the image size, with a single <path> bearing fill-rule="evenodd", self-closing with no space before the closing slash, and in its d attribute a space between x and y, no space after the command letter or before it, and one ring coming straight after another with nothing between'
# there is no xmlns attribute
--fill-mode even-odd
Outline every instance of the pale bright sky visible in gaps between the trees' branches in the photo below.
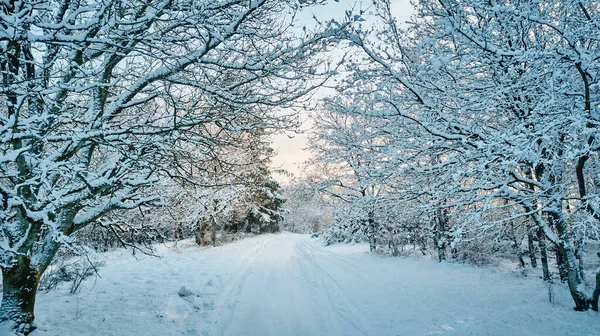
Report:
<svg viewBox="0 0 600 336"><path fill-rule="evenodd" d="M372 0L362 1L363 8L372 3ZM345 11L352 7L356 9L361 8L360 0L339 0L329 1L328 4L318 7L318 11L312 10L312 13L306 13L301 16L301 20L306 21L306 25L311 25L311 16L315 14L319 20L329 20L332 18L341 18L344 16ZM412 5L410 0L392 0L392 11L398 18L398 21L404 22L409 19L412 13ZM315 99L322 97L323 93L316 94ZM308 125L308 111L302 113L300 116L303 122L302 130L306 131ZM275 169L283 168L296 176L300 176L301 165L310 158L310 152L305 148L307 147L307 136L306 134L278 134L273 136L273 148L277 151L277 155L272 160L272 167ZM285 176L276 175L275 178L281 182L288 182L288 178Z"/></svg>

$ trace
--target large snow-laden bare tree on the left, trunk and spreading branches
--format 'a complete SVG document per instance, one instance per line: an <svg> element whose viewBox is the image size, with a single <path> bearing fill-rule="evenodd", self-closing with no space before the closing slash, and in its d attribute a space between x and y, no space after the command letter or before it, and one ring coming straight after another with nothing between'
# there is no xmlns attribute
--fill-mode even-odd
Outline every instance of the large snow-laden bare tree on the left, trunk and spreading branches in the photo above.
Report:
<svg viewBox="0 0 600 336"><path fill-rule="evenodd" d="M3 321L29 333L59 246L111 211L155 203L145 187L187 144L219 144L207 129L285 123L272 107L322 83L327 67L312 56L344 28L291 28L315 3L0 4Z"/></svg>

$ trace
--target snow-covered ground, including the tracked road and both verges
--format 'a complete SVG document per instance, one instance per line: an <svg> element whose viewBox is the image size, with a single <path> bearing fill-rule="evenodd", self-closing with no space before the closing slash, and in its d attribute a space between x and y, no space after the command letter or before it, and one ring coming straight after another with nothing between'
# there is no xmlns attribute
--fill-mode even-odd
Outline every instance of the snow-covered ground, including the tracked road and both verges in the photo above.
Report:
<svg viewBox="0 0 600 336"><path fill-rule="evenodd" d="M533 275L367 249L281 234L111 253L80 294L40 294L34 335L600 335Z"/></svg>

